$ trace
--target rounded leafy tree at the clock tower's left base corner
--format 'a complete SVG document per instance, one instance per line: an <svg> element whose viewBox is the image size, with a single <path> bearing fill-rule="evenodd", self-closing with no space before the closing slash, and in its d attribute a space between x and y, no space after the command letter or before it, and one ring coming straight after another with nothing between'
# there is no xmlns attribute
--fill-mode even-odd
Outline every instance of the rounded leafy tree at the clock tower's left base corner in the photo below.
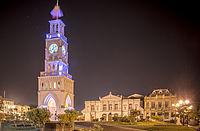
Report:
<svg viewBox="0 0 200 131"><path fill-rule="evenodd" d="M50 121L50 111L44 108L35 108L26 112L26 117L35 125L44 127L45 123Z"/></svg>

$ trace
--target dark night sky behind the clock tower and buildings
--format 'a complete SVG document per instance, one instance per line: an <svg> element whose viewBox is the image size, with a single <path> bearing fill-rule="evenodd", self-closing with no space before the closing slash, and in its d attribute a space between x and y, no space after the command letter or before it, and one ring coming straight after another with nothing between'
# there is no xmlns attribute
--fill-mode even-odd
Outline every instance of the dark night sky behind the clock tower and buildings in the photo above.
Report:
<svg viewBox="0 0 200 131"><path fill-rule="evenodd" d="M37 104L45 34L56 0L1 3L0 94ZM169 88L196 101L200 86L200 8L176 0L61 0L75 108L113 92Z"/></svg>

